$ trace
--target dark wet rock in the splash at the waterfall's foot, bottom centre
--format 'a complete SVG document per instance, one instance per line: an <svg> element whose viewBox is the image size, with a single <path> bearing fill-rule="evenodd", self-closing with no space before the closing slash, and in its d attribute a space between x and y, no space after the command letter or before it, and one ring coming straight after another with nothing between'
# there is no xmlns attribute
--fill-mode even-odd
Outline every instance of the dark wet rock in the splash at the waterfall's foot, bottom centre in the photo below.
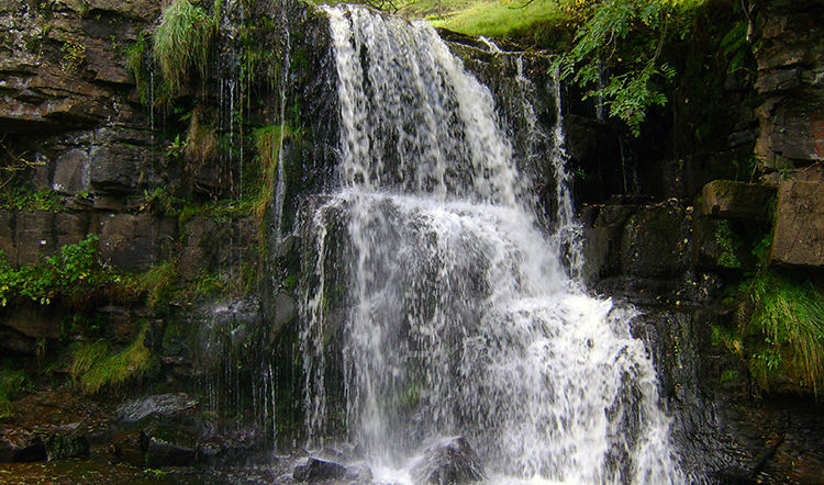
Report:
<svg viewBox="0 0 824 485"><path fill-rule="evenodd" d="M426 449L412 476L419 484L480 482L485 478L483 462L465 438L450 438Z"/></svg>

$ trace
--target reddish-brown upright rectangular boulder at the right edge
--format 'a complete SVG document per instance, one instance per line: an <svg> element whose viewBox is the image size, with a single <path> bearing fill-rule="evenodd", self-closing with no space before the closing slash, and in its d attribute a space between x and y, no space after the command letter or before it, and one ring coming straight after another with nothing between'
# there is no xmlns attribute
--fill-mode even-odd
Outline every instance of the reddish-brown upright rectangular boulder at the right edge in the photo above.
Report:
<svg viewBox="0 0 824 485"><path fill-rule="evenodd" d="M824 268L824 182L779 187L770 264Z"/></svg>

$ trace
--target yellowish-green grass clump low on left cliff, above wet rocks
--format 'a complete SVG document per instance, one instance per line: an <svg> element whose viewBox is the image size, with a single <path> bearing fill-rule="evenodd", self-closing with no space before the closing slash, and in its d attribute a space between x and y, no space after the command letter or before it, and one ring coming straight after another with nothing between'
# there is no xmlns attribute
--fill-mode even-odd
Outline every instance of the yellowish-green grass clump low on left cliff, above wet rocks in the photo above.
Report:
<svg viewBox="0 0 824 485"><path fill-rule="evenodd" d="M132 345L120 352L114 352L105 340L81 345L74 353L73 382L85 394L98 394L142 379L156 365L145 339L146 326Z"/></svg>

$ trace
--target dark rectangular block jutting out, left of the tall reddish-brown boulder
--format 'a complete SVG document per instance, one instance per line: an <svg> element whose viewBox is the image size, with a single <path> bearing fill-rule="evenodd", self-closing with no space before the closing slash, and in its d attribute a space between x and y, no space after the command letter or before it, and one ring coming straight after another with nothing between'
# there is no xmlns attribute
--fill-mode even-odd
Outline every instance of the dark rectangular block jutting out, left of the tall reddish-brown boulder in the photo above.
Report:
<svg viewBox="0 0 824 485"><path fill-rule="evenodd" d="M775 196L773 187L713 180L701 191L697 208L701 216L767 219L767 208Z"/></svg>

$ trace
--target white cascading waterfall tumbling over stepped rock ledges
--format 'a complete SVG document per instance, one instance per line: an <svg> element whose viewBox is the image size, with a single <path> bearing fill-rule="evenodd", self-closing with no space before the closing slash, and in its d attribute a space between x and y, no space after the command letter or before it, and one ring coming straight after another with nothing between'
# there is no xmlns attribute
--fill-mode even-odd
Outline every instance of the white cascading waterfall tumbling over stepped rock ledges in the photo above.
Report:
<svg viewBox="0 0 824 485"><path fill-rule="evenodd" d="M380 474L460 435L494 481L682 481L632 312L569 278L488 89L425 23L326 12L342 189L304 222L310 445Z"/></svg>

